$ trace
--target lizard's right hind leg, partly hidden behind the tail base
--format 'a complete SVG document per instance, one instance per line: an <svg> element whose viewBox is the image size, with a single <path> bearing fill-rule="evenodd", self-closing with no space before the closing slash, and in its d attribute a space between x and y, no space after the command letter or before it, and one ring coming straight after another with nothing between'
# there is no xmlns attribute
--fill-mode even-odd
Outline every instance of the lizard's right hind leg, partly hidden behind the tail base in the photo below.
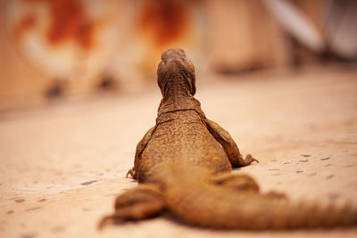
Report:
<svg viewBox="0 0 357 238"><path fill-rule="evenodd" d="M247 175L237 175L228 173L221 173L212 176L212 182L221 187L227 187L235 191L245 191L259 193L259 185L255 182L253 177Z"/></svg>

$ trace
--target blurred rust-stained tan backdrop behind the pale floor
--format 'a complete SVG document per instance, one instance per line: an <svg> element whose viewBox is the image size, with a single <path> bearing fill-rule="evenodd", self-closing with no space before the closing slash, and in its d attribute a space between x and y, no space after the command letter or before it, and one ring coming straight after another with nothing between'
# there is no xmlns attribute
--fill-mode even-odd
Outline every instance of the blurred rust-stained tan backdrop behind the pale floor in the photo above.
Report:
<svg viewBox="0 0 357 238"><path fill-rule="evenodd" d="M170 47L185 49L199 75L356 68L353 0L4 0L0 8L0 111L148 90Z"/></svg>

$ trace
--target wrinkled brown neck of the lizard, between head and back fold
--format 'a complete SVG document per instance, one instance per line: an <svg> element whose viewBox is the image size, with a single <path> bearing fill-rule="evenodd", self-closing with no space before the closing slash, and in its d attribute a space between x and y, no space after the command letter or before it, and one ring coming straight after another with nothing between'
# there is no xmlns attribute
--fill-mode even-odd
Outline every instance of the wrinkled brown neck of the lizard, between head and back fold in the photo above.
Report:
<svg viewBox="0 0 357 238"><path fill-rule="evenodd" d="M165 86L157 114L159 117L163 113L180 110L195 110L204 117L200 102L189 93L185 81L172 78Z"/></svg>

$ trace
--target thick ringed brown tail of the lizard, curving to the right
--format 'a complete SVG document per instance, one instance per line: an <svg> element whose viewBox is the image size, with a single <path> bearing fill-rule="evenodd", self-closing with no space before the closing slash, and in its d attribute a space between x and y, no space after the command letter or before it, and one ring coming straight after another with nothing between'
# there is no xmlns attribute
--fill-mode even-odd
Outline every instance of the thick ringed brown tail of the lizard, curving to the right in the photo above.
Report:
<svg viewBox="0 0 357 238"><path fill-rule="evenodd" d="M179 180L167 180L164 197L170 212L191 225L254 230L357 226L356 209L322 208L259 193L237 192L212 185L197 173L185 174L181 172ZM170 181L175 185L170 185Z"/></svg>

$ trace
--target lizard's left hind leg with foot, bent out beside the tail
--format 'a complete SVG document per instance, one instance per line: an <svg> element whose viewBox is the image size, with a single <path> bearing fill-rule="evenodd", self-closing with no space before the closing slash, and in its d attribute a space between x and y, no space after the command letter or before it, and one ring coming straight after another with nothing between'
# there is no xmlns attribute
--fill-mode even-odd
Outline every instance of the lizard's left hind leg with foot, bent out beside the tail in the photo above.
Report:
<svg viewBox="0 0 357 238"><path fill-rule="evenodd" d="M115 200L115 212L103 217L98 224L102 229L109 223L135 221L158 215L165 207L162 193L150 185L137 188L119 195Z"/></svg>

